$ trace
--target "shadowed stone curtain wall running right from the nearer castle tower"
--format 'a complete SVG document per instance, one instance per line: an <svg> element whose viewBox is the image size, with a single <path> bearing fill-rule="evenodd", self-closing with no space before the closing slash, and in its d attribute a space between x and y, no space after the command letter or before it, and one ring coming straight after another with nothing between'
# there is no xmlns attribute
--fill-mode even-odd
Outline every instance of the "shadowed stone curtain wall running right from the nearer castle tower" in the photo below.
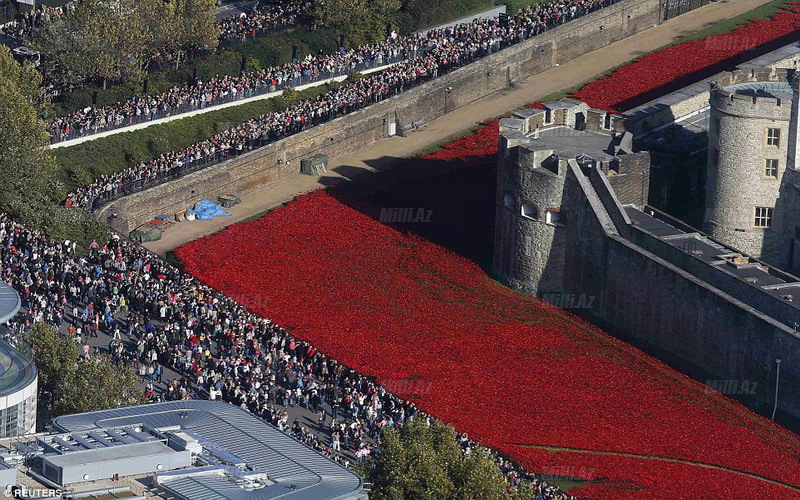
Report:
<svg viewBox="0 0 800 500"><path fill-rule="evenodd" d="M744 402L771 410L775 358L800 355L800 335L786 325L796 309L628 224L603 175L567 171L559 292L590 297L574 312L701 381L747 382ZM800 366L783 363L778 406L795 418L798 390Z"/></svg>

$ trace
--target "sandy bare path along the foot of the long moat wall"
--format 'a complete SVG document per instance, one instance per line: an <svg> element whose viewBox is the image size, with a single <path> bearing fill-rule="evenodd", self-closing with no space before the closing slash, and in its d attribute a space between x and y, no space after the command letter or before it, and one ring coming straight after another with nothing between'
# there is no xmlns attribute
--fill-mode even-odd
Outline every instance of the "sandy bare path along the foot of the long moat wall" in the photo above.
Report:
<svg viewBox="0 0 800 500"><path fill-rule="evenodd" d="M412 156L415 152L463 133L488 118L501 116L523 104L578 85L611 68L663 47L677 37L694 33L765 3L768 3L768 0L722 0L678 16L659 26L528 78L515 89L497 92L451 110L446 115L429 122L422 132L413 133L405 138L390 137L352 155L331 158L328 173L323 176L298 175L240 195L242 203L229 210L233 214L232 217L221 217L211 221L179 222L171 226L161 240L146 243L144 246L163 255L201 236L215 233L225 226L279 206L298 194L336 182L352 180L365 172L387 168Z"/></svg>

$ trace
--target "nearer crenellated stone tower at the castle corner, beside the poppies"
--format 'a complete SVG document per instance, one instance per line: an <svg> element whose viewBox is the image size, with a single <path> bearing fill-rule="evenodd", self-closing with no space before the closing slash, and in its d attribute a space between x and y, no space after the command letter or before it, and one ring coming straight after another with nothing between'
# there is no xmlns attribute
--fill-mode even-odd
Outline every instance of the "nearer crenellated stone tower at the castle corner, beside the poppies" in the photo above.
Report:
<svg viewBox="0 0 800 500"><path fill-rule="evenodd" d="M564 264L581 217L570 162L599 168L621 203L647 203L650 155L633 152L624 132L620 116L574 99L500 120L493 266L503 283L546 296L583 279Z"/></svg>

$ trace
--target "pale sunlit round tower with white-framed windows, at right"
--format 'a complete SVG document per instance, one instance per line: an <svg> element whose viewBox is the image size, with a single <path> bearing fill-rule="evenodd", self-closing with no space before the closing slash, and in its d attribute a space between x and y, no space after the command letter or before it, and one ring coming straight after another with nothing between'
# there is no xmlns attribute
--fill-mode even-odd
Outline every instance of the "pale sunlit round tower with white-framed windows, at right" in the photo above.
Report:
<svg viewBox="0 0 800 500"><path fill-rule="evenodd" d="M779 198L797 155L789 73L737 70L727 85L712 84L704 217L713 238L783 268L789 252Z"/></svg>

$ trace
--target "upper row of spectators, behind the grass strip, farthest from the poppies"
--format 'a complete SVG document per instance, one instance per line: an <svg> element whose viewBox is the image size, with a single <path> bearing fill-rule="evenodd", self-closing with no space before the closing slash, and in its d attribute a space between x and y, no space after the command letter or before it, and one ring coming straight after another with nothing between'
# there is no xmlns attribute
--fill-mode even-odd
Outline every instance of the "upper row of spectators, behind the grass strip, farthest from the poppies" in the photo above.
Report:
<svg viewBox="0 0 800 500"><path fill-rule="evenodd" d="M616 0L551 0L530 6L508 19L476 19L426 33L406 37L392 33L377 44L339 51L331 55L311 56L278 67L239 76L216 76L206 82L176 86L160 95L131 97L102 107L87 107L52 123L53 142L91 135L142 121L185 113L209 105L263 94L289 86L328 80L335 76L378 67L397 60L413 58L431 47L446 45L470 50L472 45L509 45L523 41L547 29L595 11Z"/></svg>

